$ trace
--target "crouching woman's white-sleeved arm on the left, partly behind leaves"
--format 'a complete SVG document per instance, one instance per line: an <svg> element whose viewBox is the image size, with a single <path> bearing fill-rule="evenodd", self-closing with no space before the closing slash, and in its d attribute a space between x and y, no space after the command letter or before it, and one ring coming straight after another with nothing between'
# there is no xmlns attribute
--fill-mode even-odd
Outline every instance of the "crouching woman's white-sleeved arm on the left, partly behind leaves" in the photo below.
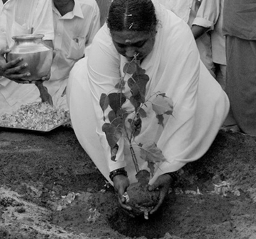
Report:
<svg viewBox="0 0 256 239"><path fill-rule="evenodd" d="M108 112L110 112L111 109L108 107L105 112L101 110L99 105L101 94L105 93L108 95L109 93L117 92L118 90L115 86L121 78L119 71L120 56L113 46L111 35L107 29L107 26L104 25L94 38L89 52L87 66L91 93L94 96L92 101L97 119L97 132L104 148L109 171L112 171L117 168L126 167L126 161L123 153L123 137L117 142L118 151L116 159L112 161L111 148L106 140L106 134L102 130L104 123L108 122ZM105 121L104 116L106 118Z"/></svg>

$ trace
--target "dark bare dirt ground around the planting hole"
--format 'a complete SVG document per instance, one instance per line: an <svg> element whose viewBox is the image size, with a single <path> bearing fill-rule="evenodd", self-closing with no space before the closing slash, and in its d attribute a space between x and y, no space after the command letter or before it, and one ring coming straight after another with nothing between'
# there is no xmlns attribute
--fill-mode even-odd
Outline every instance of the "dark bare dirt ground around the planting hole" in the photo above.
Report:
<svg viewBox="0 0 256 239"><path fill-rule="evenodd" d="M255 137L220 131L147 221L120 209L71 128L0 129L0 238L256 238L255 156Z"/></svg>

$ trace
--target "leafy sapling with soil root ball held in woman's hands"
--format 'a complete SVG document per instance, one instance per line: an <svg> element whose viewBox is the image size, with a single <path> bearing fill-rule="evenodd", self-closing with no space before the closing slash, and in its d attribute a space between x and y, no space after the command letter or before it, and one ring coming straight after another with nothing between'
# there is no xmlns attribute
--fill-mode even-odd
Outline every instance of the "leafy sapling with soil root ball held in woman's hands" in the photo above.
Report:
<svg viewBox="0 0 256 239"><path fill-rule="evenodd" d="M150 78L145 74L145 69L140 67L136 55L132 61L124 65L123 73L124 76L120 78L113 89L114 92L101 94L100 106L104 113L102 131L106 134L106 140L111 148L112 161L116 161L119 139L123 137L128 142L136 171L135 177L138 182L128 187L124 197L126 197L127 204L140 209L140 211L143 211L145 218L148 218L148 211L157 204L160 194L157 190L154 192L148 191L148 183L154 175L155 163L166 161L166 158L155 142L141 144L135 141L135 138L140 134L142 119L147 117L147 112L144 109L148 109L149 104L152 104L151 108L155 112L158 124L165 127L164 115L172 115L173 103L172 99L162 92L152 93L148 98L145 98L146 85ZM125 78L128 78L128 80L126 81ZM128 101L132 107L125 106ZM140 169L138 156L134 150L135 146L140 148L140 158L148 162L148 170Z"/></svg>

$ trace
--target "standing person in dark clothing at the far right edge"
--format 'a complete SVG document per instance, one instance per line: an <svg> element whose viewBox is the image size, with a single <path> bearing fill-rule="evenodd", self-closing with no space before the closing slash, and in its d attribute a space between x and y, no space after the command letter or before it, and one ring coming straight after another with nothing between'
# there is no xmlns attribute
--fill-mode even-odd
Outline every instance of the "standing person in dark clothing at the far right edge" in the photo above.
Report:
<svg viewBox="0 0 256 239"><path fill-rule="evenodd" d="M226 0L226 92L230 114L226 126L256 135L256 0Z"/></svg>

